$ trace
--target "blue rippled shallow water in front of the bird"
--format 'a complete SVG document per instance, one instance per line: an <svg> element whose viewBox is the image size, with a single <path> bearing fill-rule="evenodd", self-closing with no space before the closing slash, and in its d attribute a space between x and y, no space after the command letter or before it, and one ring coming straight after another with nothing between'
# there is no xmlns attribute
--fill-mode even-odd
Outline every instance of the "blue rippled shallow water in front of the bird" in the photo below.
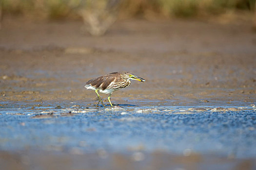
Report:
<svg viewBox="0 0 256 170"><path fill-rule="evenodd" d="M102 149L111 153L164 151L256 157L253 106L0 104L0 150L82 154Z"/></svg>

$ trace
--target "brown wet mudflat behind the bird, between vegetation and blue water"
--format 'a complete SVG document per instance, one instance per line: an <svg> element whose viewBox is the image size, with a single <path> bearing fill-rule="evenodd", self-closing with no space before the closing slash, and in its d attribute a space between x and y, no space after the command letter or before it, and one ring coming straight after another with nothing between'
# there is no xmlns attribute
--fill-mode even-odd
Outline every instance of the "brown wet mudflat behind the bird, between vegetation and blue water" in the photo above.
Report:
<svg viewBox="0 0 256 170"><path fill-rule="evenodd" d="M86 81L131 71L146 82L133 82L113 99L255 104L256 34L250 23L127 20L102 37L82 34L81 22L24 23L2 23L2 101L89 102L95 94L83 88Z"/></svg>

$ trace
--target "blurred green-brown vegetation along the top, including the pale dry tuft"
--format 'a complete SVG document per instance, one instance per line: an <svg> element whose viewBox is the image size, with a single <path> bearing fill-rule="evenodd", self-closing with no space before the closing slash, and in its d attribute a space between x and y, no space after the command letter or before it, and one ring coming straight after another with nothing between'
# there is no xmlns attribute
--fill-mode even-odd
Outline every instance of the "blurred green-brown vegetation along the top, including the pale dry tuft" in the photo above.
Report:
<svg viewBox="0 0 256 170"><path fill-rule="evenodd" d="M93 35L104 34L117 19L253 21L255 9L255 0L1 0L0 3L1 17L83 20Z"/></svg>

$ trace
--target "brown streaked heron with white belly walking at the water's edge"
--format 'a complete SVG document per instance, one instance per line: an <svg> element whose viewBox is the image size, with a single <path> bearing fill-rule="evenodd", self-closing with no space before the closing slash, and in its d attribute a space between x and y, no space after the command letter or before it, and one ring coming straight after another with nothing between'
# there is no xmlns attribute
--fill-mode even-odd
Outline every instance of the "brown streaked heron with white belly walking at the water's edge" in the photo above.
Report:
<svg viewBox="0 0 256 170"><path fill-rule="evenodd" d="M103 107L105 107L105 105L102 102L102 99L98 94L98 91L100 93L109 94L108 102L110 103L111 107L113 107L113 104L110 101L110 96L114 91L120 90L131 85L131 80L145 82L144 79L132 74L131 72L112 72L110 74L106 74L89 80L88 82L86 82L84 87L86 89L95 90L95 93L97 94L99 100L98 103L101 102Z"/></svg>

